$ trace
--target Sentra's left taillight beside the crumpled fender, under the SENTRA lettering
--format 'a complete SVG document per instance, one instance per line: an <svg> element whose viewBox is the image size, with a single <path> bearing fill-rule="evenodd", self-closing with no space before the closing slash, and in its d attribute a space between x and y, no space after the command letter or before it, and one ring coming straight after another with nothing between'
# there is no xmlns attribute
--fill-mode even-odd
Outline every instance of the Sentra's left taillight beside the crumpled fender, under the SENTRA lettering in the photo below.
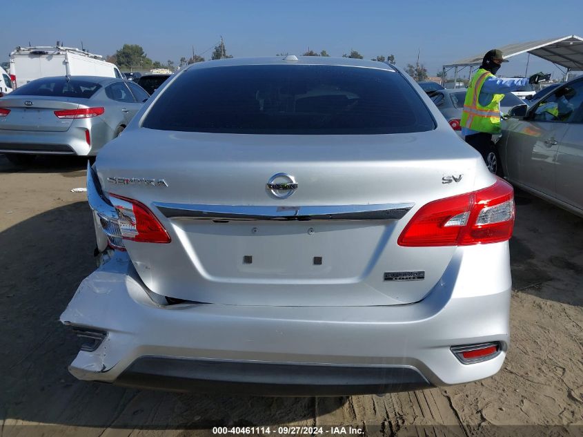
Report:
<svg viewBox="0 0 583 437"><path fill-rule="evenodd" d="M111 202L117 210L118 225L123 240L144 243L169 243L170 236L156 216L137 200L112 194Z"/></svg>

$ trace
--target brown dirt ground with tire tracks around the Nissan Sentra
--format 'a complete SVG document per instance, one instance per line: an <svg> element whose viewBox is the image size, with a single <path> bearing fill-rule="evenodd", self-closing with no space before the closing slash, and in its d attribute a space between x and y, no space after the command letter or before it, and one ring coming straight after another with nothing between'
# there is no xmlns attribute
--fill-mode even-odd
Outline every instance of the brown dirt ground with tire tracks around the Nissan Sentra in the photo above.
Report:
<svg viewBox="0 0 583 437"><path fill-rule="evenodd" d="M0 437L199 436L216 426L277 435L290 425L371 436L583 435L583 220L521 191L511 349L493 378L350 398L198 396L75 380L67 365L77 342L58 318L95 269L86 196L70 192L85 186L85 166L43 158L19 169L0 155Z"/></svg>

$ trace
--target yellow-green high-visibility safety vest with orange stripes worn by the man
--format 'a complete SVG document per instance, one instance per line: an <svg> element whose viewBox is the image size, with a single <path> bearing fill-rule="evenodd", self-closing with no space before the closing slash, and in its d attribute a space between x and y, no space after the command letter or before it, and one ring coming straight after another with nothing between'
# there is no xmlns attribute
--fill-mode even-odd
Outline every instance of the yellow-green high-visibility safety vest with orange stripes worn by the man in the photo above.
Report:
<svg viewBox="0 0 583 437"><path fill-rule="evenodd" d="M470 80L462 111L462 127L477 132L500 133L500 101L504 94L495 94L487 106L482 106L478 99L484 81L490 76L494 75L480 68Z"/></svg>

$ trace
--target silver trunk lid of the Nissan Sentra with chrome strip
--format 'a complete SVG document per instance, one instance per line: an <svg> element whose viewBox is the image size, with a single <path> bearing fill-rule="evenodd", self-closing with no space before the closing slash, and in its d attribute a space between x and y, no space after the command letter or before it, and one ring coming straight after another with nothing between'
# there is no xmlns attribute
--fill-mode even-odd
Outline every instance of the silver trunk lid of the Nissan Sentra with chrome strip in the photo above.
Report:
<svg viewBox="0 0 583 437"><path fill-rule="evenodd" d="M225 135L140 128L123 137L99 153L101 186L148 206L172 238L126 241L137 272L155 293L217 304L421 300L455 247L402 247L399 233L427 202L473 191L483 167L444 129ZM295 177L297 189L287 198L266 186L277 173ZM488 185L491 176L480 174ZM442 184L448 175L463 177ZM424 278L390 280L404 272Z"/></svg>

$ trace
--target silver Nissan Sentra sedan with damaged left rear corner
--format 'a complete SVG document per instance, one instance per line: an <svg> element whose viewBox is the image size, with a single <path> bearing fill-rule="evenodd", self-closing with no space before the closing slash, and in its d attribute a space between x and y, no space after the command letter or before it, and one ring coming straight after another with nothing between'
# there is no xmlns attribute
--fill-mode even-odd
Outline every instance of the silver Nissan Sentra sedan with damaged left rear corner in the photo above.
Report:
<svg viewBox="0 0 583 437"><path fill-rule="evenodd" d="M101 266L61 315L81 380L337 396L504 362L513 190L395 66L194 64L87 187Z"/></svg>

